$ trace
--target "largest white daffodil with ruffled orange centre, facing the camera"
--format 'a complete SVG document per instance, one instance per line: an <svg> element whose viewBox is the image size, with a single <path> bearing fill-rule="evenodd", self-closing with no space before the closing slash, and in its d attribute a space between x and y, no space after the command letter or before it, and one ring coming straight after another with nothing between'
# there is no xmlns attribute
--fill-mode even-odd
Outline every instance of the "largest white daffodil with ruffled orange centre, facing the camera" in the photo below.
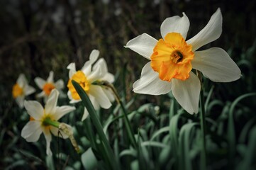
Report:
<svg viewBox="0 0 256 170"><path fill-rule="evenodd" d="M193 114L199 110L201 84L199 78L191 72L192 69L199 70L205 77L216 82L240 78L240 69L223 49L212 47L196 51L220 37L220 8L213 13L204 29L187 41L189 18L185 13L182 17L166 18L160 30L162 38L158 41L143 33L126 45L150 60L143 67L140 79L133 84L135 93L160 95L172 91L178 103Z"/></svg>

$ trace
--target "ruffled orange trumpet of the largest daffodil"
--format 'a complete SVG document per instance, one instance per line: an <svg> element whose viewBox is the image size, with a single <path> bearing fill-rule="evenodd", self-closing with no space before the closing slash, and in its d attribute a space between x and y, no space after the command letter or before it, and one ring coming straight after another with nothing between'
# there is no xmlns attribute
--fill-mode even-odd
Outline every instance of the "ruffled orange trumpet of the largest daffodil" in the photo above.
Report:
<svg viewBox="0 0 256 170"><path fill-rule="evenodd" d="M151 67L159 73L160 79L171 81L172 78L189 79L194 59L192 46L187 45L181 34L168 33L165 40L160 39L151 55Z"/></svg>

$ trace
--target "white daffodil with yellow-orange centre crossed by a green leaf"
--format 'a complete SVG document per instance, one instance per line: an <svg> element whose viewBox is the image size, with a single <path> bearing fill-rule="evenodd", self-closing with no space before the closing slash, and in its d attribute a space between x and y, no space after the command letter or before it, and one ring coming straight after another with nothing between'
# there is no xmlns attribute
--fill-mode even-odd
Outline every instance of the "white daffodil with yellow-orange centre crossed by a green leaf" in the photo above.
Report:
<svg viewBox="0 0 256 170"><path fill-rule="evenodd" d="M79 94L77 94L72 84L72 80L74 80L87 92L96 110L99 107L109 108L111 106L111 101L114 100L112 91L106 86L100 86L97 82L108 81L108 83L113 83L114 77L113 74L108 72L106 61L103 58L96 62L98 57L99 50L92 50L89 61L84 64L81 70L77 71L74 63L70 63L67 66L67 69L69 69L69 81L67 84L69 91L67 92L67 96L70 99L70 103L81 101ZM87 108L84 108L82 120L87 118L88 115Z"/></svg>

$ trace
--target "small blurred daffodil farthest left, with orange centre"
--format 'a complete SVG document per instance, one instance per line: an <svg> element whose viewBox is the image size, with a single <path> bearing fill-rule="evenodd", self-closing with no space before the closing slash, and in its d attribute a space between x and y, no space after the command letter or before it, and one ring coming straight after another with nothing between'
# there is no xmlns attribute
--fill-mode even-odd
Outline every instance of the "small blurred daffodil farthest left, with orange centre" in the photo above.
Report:
<svg viewBox="0 0 256 170"><path fill-rule="evenodd" d="M25 96L33 94L35 89L32 86L28 85L28 81L24 74L20 74L16 81L16 84L13 85L13 98L18 103L20 108L24 107Z"/></svg>

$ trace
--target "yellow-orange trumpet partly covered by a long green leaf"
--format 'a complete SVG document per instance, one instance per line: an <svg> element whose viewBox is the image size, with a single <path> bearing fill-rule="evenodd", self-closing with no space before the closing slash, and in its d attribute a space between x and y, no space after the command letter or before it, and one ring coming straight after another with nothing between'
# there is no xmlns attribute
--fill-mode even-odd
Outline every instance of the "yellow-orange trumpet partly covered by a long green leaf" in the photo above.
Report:
<svg viewBox="0 0 256 170"><path fill-rule="evenodd" d="M74 89L74 86L72 84L72 80L77 81L77 83L82 86L82 88L84 89L84 91L89 91L90 89L90 83L87 80L87 77L85 76L85 74L82 71L77 71L71 79L69 79L68 83L67 83L67 87L69 89L69 91L71 92L72 98L74 98L75 100L79 100L80 96L77 94L76 89Z"/></svg>

